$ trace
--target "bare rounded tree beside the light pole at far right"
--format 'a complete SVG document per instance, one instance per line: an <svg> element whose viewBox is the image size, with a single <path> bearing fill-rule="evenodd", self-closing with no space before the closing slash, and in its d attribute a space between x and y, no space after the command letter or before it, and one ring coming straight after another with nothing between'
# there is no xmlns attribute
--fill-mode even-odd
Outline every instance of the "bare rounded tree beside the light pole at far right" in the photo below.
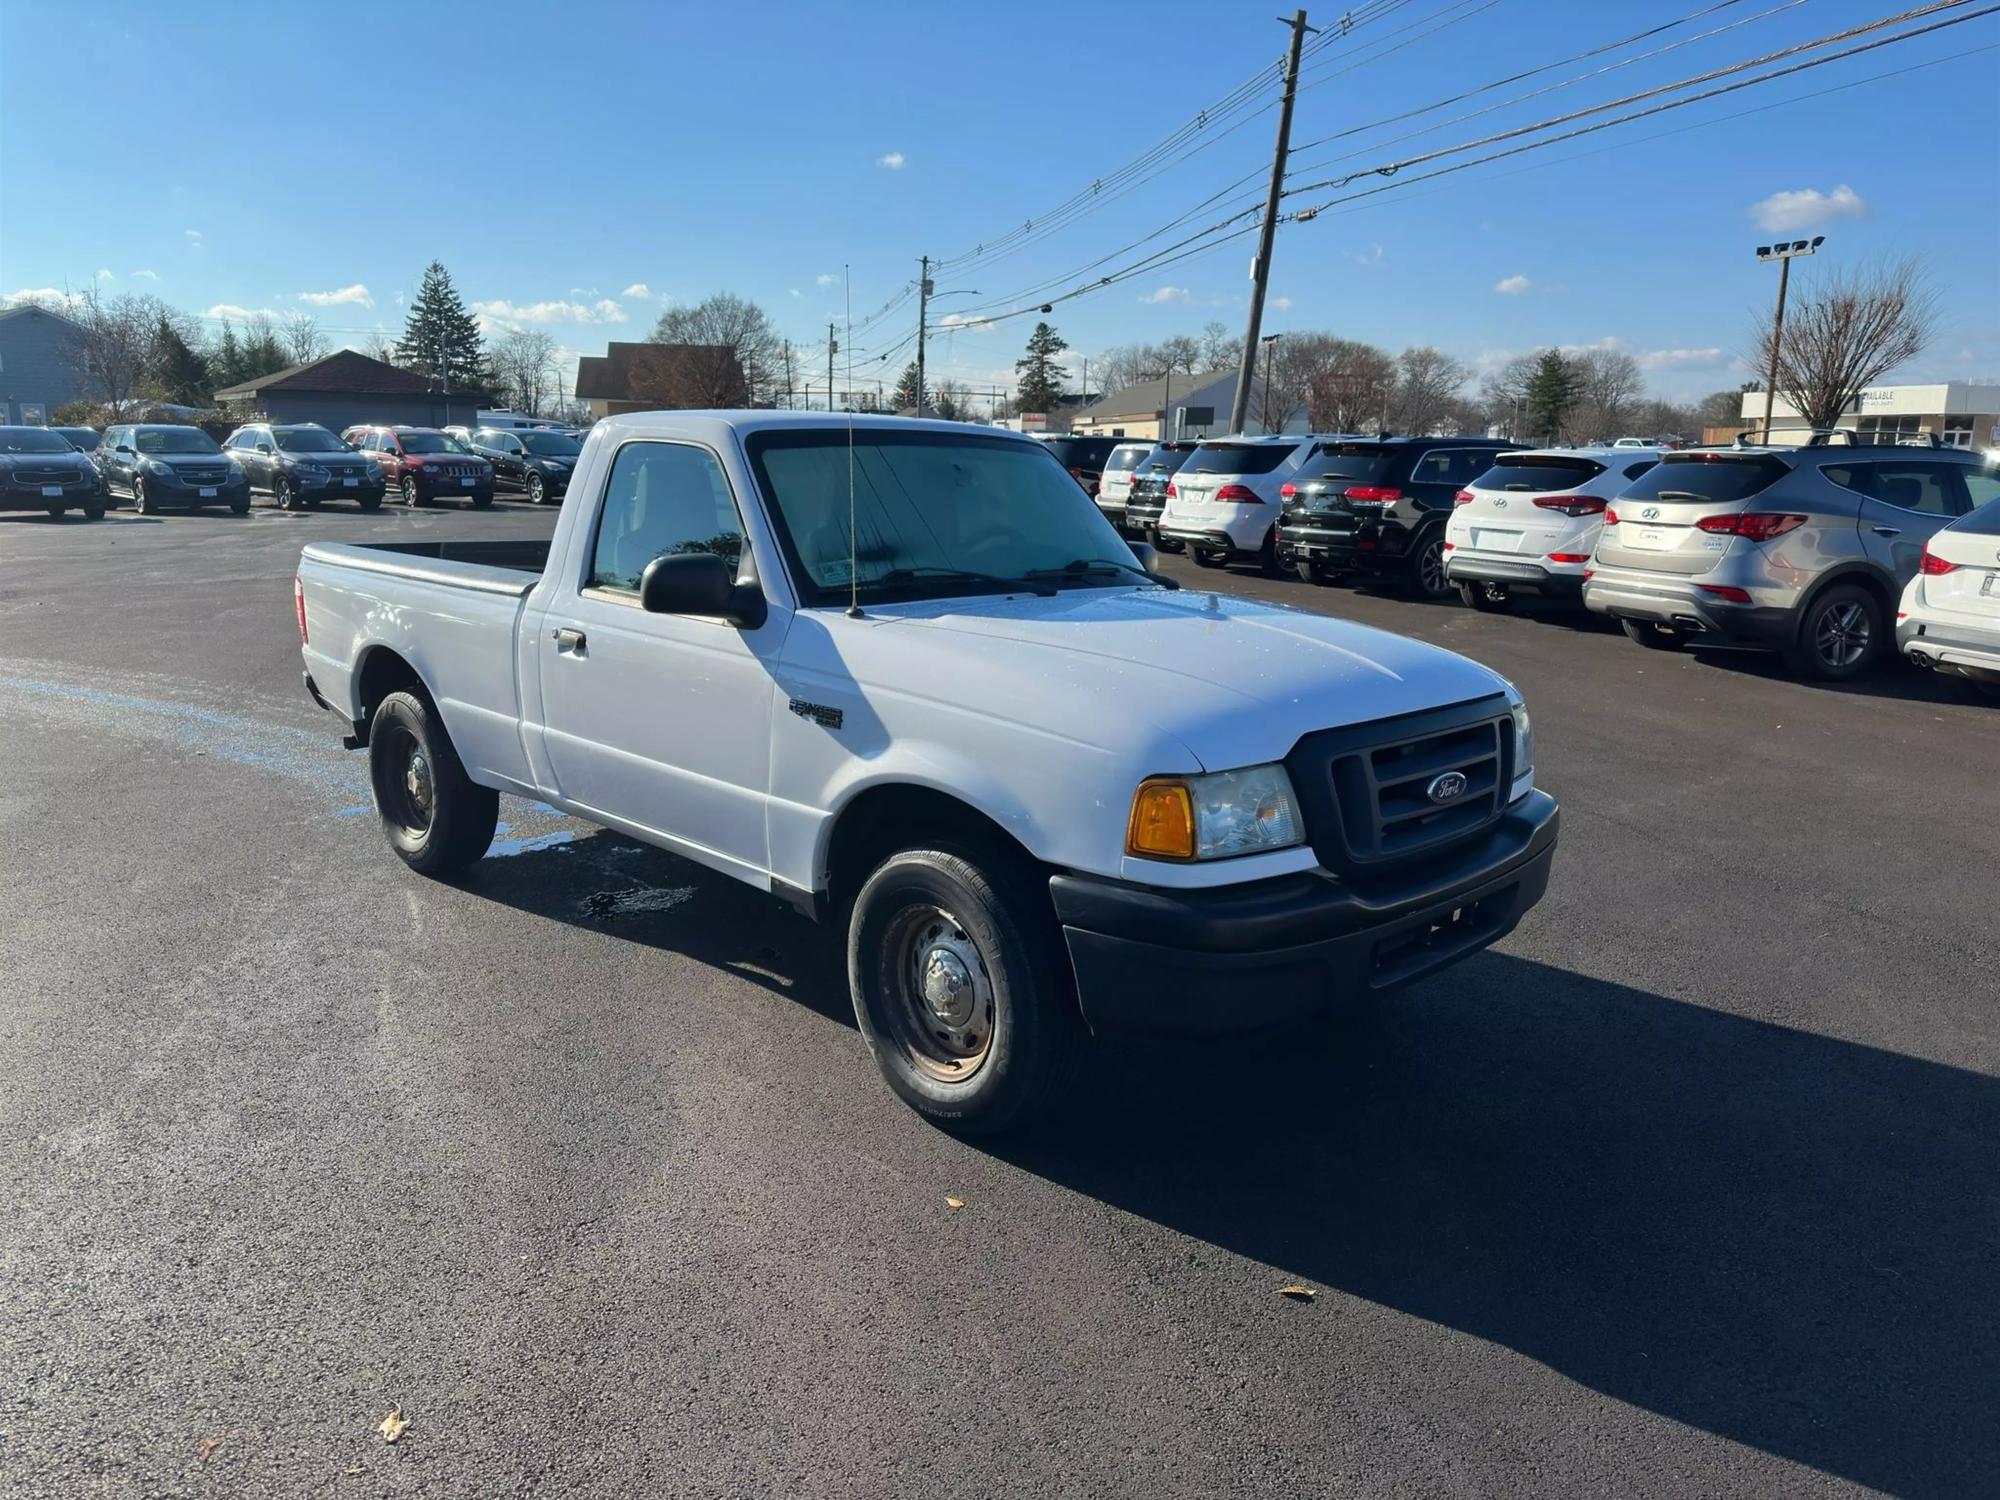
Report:
<svg viewBox="0 0 2000 1500"><path fill-rule="evenodd" d="M1916 260L1822 276L1794 292L1776 392L1810 428L1832 428L1862 394L1930 344L1938 296ZM1756 326L1756 368L1772 368L1772 318Z"/></svg>

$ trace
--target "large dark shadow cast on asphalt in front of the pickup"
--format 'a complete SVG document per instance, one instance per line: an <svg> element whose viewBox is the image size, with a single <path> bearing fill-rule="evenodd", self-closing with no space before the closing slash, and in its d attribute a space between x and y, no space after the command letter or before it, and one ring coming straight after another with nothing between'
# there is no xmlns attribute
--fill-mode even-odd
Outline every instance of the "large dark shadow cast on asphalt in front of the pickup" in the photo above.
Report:
<svg viewBox="0 0 2000 1500"><path fill-rule="evenodd" d="M1828 1474L2000 1472L2000 1080L1484 954L1094 1082L1000 1154Z"/></svg>

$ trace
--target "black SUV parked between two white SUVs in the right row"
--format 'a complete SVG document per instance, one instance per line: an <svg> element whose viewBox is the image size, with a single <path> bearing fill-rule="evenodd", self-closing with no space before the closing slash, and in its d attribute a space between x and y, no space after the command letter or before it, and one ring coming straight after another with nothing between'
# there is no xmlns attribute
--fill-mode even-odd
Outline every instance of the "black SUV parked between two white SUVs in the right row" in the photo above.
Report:
<svg viewBox="0 0 2000 1500"><path fill-rule="evenodd" d="M1278 492L1278 560L1300 578L1410 578L1448 598L1444 524L1454 496L1520 448L1498 438L1338 438L1322 442Z"/></svg>

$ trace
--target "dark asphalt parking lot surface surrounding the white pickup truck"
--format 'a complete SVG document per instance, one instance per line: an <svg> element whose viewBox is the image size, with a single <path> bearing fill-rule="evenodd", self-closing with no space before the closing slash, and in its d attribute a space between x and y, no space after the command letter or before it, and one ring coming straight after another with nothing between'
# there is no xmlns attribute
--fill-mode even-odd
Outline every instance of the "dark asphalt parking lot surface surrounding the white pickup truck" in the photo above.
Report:
<svg viewBox="0 0 2000 1500"><path fill-rule="evenodd" d="M1992 1492L2000 714L1168 560L1514 678L1554 884L974 1146L778 902L384 848L298 546L552 520L0 518L0 1494Z"/></svg>

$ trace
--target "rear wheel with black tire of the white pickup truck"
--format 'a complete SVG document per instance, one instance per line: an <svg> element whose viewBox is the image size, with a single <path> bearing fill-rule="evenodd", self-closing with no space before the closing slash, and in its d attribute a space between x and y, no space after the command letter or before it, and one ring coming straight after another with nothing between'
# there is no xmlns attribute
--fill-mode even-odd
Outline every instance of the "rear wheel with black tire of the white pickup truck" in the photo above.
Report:
<svg viewBox="0 0 2000 1500"><path fill-rule="evenodd" d="M476 864L494 840L500 794L466 776L452 736L430 702L392 692L368 726L368 778L396 856L444 878Z"/></svg>

